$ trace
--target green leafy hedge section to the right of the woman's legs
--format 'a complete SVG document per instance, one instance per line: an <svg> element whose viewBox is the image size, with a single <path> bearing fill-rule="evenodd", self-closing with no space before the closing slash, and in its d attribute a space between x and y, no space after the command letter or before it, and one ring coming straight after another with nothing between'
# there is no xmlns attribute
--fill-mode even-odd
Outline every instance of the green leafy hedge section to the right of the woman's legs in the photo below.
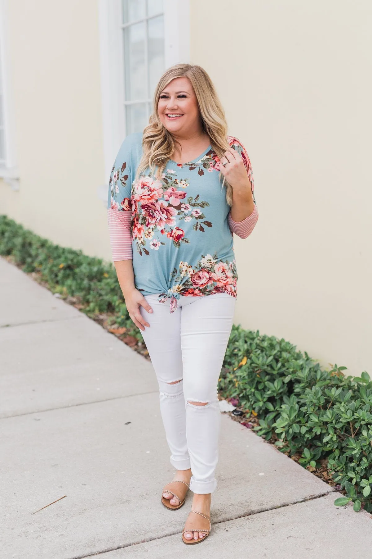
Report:
<svg viewBox="0 0 372 559"><path fill-rule="evenodd" d="M348 495L340 499L372 511L372 382L366 372L346 377L345 368L325 371L284 339L234 326L219 387L257 416L261 437L301 454L302 466L327 458Z"/></svg>

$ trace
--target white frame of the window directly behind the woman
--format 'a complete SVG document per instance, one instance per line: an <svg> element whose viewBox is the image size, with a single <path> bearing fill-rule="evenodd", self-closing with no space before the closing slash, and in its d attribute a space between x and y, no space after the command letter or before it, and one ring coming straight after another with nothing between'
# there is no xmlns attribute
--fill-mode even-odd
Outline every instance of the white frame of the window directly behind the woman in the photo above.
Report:
<svg viewBox="0 0 372 559"><path fill-rule="evenodd" d="M162 13L165 30L165 67L169 68L181 62L188 63L190 60L189 0L163 0ZM125 106L138 102L152 102L152 99L125 101L123 40L125 26L127 24L123 24L122 0L99 0L103 149L107 181L119 147L125 138ZM99 187L99 197L107 201L107 190L104 191L104 188L106 189L107 185Z"/></svg>

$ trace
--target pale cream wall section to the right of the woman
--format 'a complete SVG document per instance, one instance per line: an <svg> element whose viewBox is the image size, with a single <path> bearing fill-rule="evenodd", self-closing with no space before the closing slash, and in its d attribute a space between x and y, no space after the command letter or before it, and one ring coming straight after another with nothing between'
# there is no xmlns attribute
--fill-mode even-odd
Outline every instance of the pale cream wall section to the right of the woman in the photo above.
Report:
<svg viewBox="0 0 372 559"><path fill-rule="evenodd" d="M203 17L205 14L206 17ZM252 160L236 322L372 373L369 0L191 0L204 66Z"/></svg>

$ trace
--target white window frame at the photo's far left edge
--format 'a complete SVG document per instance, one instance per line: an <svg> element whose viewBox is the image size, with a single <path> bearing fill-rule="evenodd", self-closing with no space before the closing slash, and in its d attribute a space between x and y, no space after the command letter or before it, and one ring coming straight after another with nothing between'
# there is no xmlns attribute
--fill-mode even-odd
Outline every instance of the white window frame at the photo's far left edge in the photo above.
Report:
<svg viewBox="0 0 372 559"><path fill-rule="evenodd" d="M0 0L0 56L1 78L3 84L3 119L5 161L0 164L0 178L3 178L13 190L19 190L20 181L15 150L15 120L11 89L9 48L8 48L8 0Z"/></svg>

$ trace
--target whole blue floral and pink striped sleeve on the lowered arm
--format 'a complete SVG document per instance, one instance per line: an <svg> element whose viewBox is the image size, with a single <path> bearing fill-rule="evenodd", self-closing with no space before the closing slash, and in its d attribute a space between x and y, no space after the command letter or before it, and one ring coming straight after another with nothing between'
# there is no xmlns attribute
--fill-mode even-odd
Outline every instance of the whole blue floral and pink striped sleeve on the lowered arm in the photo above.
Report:
<svg viewBox="0 0 372 559"><path fill-rule="evenodd" d="M107 221L114 262L116 260L130 260L133 257L131 239L133 173L130 140L130 137L126 138L120 146L109 181Z"/></svg>

